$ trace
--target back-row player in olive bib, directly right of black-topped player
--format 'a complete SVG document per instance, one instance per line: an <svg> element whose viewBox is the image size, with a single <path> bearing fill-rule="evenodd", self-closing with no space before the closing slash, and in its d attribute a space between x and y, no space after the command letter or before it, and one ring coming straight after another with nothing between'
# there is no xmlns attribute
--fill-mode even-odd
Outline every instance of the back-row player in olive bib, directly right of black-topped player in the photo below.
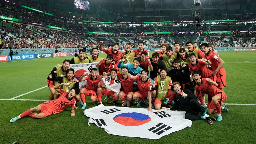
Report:
<svg viewBox="0 0 256 144"><path fill-rule="evenodd" d="M166 49L166 54L159 57L159 59L164 62L167 72L169 72L171 69L173 69L172 61L177 59L177 53L174 53L174 55L173 55L172 47L168 46Z"/></svg>

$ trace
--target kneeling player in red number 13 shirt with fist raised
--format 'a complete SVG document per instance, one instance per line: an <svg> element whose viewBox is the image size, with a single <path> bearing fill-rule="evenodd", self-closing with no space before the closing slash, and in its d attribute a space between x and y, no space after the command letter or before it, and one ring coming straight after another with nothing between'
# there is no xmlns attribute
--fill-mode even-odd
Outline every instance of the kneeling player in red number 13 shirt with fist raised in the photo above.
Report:
<svg viewBox="0 0 256 144"><path fill-rule="evenodd" d="M84 74L80 77L79 81L87 81L87 87L82 88L80 90L80 96L82 99L82 103L80 102L82 106L81 109L85 109L87 106L85 102L85 96L91 96L91 100L96 103L97 100L97 88L100 86L100 81L103 77L97 74L98 70L97 68L92 68L91 74L87 74L87 72L84 72Z"/></svg>

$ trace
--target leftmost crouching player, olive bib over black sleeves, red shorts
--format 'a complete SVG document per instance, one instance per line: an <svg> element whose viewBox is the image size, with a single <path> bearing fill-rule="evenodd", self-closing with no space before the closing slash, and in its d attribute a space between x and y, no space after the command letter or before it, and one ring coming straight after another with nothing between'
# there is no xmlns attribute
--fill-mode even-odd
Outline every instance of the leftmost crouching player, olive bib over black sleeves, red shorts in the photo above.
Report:
<svg viewBox="0 0 256 144"><path fill-rule="evenodd" d="M49 96L49 100L54 99L55 89L53 88L55 85L58 85L59 83L57 81L53 81L53 75L56 75L56 77L63 77L66 76L66 72L68 71L70 66L70 60L65 59L63 61L63 65L56 66L52 69L51 73L47 77L47 85L51 92Z"/></svg>

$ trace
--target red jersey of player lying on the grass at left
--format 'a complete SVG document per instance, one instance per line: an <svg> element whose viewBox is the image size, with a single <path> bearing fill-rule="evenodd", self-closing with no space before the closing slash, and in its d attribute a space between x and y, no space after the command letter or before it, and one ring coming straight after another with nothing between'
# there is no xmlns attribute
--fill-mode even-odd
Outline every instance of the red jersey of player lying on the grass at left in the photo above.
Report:
<svg viewBox="0 0 256 144"><path fill-rule="evenodd" d="M51 101L51 108L53 114L62 112L69 105L71 105L71 108L75 108L75 98L69 100L67 98L68 93L62 89L60 89L59 93L61 93L60 97L56 100Z"/></svg>

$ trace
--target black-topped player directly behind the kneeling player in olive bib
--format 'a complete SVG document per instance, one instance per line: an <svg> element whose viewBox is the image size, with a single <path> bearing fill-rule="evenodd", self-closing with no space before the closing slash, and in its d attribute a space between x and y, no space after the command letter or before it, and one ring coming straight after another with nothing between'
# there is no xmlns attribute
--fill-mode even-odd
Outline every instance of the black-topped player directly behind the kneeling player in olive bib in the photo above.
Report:
<svg viewBox="0 0 256 144"><path fill-rule="evenodd" d="M150 78L151 78L151 81L153 83L155 77L159 73L159 70L160 69L166 69L166 67L165 67L164 62L159 60L159 53L157 53L157 52L152 53L152 58L149 58L149 59L150 59L151 64L153 66L153 70L150 71Z"/></svg>

